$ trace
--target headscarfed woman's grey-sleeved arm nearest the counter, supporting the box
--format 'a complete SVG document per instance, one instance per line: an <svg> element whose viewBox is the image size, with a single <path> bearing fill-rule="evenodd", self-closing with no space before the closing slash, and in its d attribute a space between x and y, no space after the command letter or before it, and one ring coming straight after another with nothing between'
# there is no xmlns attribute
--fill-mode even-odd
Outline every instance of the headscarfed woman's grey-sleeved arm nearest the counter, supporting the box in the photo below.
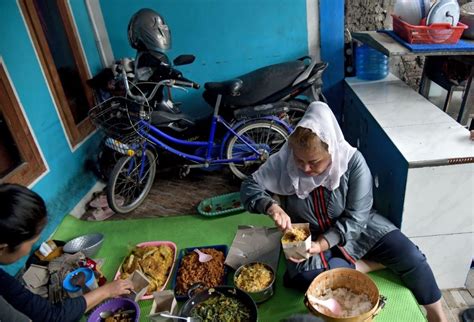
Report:
<svg viewBox="0 0 474 322"><path fill-rule="evenodd" d="M344 212L334 226L323 234L329 248L359 238L372 209L372 175L360 152L353 156L347 171L349 180Z"/></svg>

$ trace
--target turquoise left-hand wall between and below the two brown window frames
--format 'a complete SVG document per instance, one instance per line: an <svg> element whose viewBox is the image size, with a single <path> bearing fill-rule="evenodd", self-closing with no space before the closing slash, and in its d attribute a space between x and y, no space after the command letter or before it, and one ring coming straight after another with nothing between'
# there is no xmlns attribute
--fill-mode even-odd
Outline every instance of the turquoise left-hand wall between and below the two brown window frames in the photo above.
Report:
<svg viewBox="0 0 474 322"><path fill-rule="evenodd" d="M94 185L96 179L85 170L84 161L95 153L97 138L92 137L71 151L17 1L2 0L0 12L0 30L9 31L0 37L0 56L49 167L49 173L32 187L48 206L49 222L41 237L44 240ZM93 55L93 51L88 53ZM9 265L6 269L15 272L22 264Z"/></svg>

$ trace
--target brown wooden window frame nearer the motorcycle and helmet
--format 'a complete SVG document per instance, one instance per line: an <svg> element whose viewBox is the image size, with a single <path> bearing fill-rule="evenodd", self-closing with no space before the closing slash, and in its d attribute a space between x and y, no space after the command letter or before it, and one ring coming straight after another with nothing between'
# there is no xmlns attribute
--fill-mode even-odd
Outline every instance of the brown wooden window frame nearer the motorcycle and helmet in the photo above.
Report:
<svg viewBox="0 0 474 322"><path fill-rule="evenodd" d="M69 41L69 46L71 47L74 61L78 68L87 102L89 103L89 107L92 107L95 105L94 93L86 83L87 79L90 78L89 70L87 68L86 59L83 55L82 46L79 41L71 11L67 4L67 0L56 0L56 2L58 4L61 21L64 25ZM25 17L27 27L30 31L34 48L38 53L40 64L45 72L46 80L48 82L49 88L51 89L53 100L57 106L66 134L72 147L75 147L90 133L92 133L95 127L90 121L89 117L86 117L78 124L75 123L69 102L67 100L66 94L64 93L61 80L56 70L56 64L54 63L48 42L43 33L34 1L20 0L19 3L21 11Z"/></svg>

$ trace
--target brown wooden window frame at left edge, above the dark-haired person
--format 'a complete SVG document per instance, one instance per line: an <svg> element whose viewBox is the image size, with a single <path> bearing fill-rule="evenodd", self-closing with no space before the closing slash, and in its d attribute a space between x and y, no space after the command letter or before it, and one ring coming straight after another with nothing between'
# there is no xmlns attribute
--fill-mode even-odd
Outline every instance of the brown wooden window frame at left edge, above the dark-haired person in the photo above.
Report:
<svg viewBox="0 0 474 322"><path fill-rule="evenodd" d="M28 186L45 173L47 168L1 60L0 106L4 107L2 109L3 117L23 160L19 166L1 177L0 183L9 182Z"/></svg>

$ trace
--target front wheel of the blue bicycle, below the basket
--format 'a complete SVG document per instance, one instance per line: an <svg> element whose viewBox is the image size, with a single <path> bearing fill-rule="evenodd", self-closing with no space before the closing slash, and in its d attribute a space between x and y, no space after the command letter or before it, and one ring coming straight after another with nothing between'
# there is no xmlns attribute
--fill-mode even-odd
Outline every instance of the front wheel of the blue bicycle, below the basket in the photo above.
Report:
<svg viewBox="0 0 474 322"><path fill-rule="evenodd" d="M136 209L150 192L156 174L155 155L146 150L122 157L110 174L107 186L109 207L125 214Z"/></svg>

